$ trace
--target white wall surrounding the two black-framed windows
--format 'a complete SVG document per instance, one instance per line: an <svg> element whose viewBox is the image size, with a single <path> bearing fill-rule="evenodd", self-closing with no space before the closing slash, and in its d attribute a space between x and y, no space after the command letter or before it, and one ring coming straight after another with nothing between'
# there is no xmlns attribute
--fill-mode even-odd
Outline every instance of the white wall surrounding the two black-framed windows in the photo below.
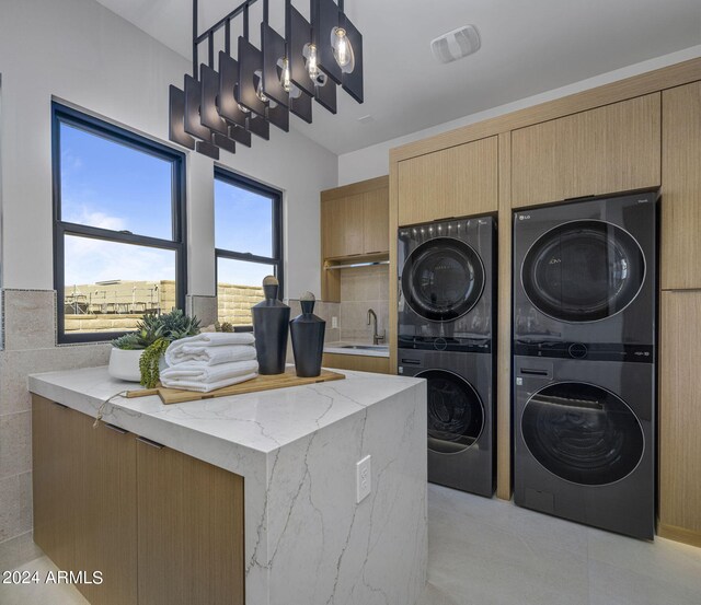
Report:
<svg viewBox="0 0 701 605"><path fill-rule="evenodd" d="M93 0L1 0L4 288L53 288L51 96L168 143L168 85L182 86L191 69ZM222 152L220 163L285 191L287 292L319 292L319 191L336 185L337 159L296 131L271 130L271 141ZM187 183L188 290L209 295L211 160L189 152Z"/></svg>

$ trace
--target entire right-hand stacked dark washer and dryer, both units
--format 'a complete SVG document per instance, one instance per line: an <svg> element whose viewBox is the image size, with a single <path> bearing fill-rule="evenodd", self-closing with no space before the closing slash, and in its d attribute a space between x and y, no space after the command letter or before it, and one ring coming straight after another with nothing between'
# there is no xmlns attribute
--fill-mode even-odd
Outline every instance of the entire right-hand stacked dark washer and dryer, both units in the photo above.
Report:
<svg viewBox="0 0 701 605"><path fill-rule="evenodd" d="M514 499L652 539L657 191L514 216Z"/></svg>

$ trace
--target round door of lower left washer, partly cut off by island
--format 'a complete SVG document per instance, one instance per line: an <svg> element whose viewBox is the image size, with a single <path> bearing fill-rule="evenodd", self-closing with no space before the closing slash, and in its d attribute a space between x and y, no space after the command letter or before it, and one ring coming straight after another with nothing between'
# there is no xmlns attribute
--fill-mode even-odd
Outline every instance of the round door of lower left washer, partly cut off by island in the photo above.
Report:
<svg viewBox="0 0 701 605"><path fill-rule="evenodd" d="M446 370L416 377L428 381L428 449L457 454L474 444L484 429L484 406L472 385Z"/></svg>

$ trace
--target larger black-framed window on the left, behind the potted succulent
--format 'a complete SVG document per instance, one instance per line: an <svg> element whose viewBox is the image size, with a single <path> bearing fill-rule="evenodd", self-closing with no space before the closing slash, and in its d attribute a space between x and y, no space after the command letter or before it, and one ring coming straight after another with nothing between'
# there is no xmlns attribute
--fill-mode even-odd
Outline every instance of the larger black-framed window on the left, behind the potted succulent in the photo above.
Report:
<svg viewBox="0 0 701 605"><path fill-rule="evenodd" d="M55 103L53 163L59 342L183 309L184 155Z"/></svg>

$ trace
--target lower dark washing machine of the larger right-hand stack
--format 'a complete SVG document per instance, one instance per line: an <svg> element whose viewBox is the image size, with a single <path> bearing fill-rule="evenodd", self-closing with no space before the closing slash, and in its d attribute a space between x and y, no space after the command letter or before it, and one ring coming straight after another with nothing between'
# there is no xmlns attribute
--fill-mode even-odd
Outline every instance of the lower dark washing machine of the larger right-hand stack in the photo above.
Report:
<svg viewBox="0 0 701 605"><path fill-rule="evenodd" d="M514 361L516 504L653 539L654 364Z"/></svg>

